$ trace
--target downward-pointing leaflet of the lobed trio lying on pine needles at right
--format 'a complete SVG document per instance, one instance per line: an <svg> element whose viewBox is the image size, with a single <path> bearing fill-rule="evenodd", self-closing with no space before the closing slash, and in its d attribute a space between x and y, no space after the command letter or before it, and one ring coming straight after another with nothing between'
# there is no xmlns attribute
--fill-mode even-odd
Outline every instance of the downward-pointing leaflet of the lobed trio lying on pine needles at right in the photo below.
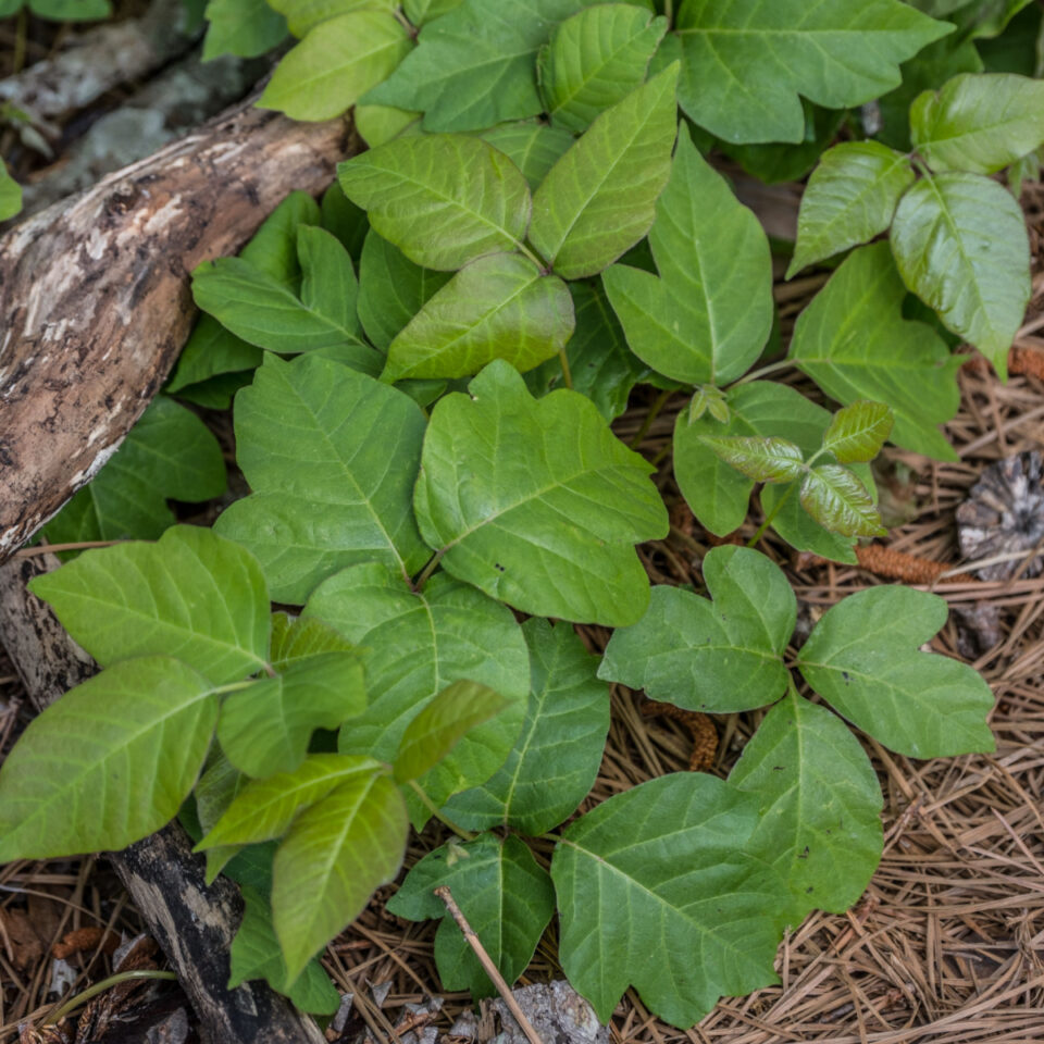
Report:
<svg viewBox="0 0 1044 1044"><path fill-rule="evenodd" d="M747 850L788 883L795 921L855 905L881 858L881 785L840 718L792 689L743 748L729 782L761 801Z"/></svg>

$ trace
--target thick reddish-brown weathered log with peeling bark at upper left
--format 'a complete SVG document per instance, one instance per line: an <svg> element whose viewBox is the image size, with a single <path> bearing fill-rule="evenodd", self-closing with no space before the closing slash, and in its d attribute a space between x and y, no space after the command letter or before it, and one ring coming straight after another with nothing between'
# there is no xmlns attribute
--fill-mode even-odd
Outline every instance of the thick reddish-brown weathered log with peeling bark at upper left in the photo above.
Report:
<svg viewBox="0 0 1044 1044"><path fill-rule="evenodd" d="M319 192L348 125L252 99L0 240L0 561L95 475L192 322L189 272L291 189Z"/></svg>

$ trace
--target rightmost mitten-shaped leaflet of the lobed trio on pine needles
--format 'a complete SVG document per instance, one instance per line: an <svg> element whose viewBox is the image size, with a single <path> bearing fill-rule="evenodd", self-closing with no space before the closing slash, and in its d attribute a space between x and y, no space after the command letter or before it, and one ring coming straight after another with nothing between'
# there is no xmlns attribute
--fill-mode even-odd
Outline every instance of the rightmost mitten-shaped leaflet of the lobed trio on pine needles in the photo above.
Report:
<svg viewBox="0 0 1044 1044"><path fill-rule="evenodd" d="M860 591L820 619L798 667L835 710L891 750L911 758L989 753L990 686L958 660L918 651L947 611L923 591Z"/></svg>

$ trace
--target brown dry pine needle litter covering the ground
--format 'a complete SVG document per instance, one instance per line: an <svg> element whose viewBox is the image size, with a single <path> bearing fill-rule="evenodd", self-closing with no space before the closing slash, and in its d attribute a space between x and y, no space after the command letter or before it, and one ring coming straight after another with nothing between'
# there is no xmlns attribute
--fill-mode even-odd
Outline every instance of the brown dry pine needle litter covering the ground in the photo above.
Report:
<svg viewBox="0 0 1044 1044"><path fill-rule="evenodd" d="M758 545L787 573L803 612L812 619L845 595L904 582L934 591L955 610L933 642L936 651L959 655L969 647L967 621L995 621L979 633L973 645L980 651L971 662L997 698L992 719L997 750L919 762L868 744L884 792L885 853L860 903L847 913L816 913L795 927L780 948L780 984L722 1000L692 1030L659 1022L630 992L612 1020L617 1044L1044 1042L1044 576L984 582L953 572L966 566L954 514L983 469L1012 453L1044 449L1044 189L1029 186L1023 204L1036 251L1034 302L1006 385L985 364L971 363L959 374L960 412L947 425L958 462L886 451L896 476L891 493L911 521L893 527L885 542L860 548L858 566L803 560L772 534ZM781 295L784 341L818 285ZM780 375L817 395L798 374ZM642 431L657 397L652 389L644 395L636 394L616 425L624 442ZM669 477L670 436L683 406L682 396L672 396L642 438L642 452L664 462L658 481L673 507L671 535L641 552L654 583L701 589L700 560L717 542L692 518ZM734 539L746 543L760 521L755 501ZM605 646L607 632L579 630L592 649ZM0 658L0 755L10 748L16 722L24 721L13 673ZM614 688L609 741L584 810L645 780L688 770L697 724L705 746L711 733L717 746L709 757L703 754L699 767L726 774L763 713L712 716L700 723L696 717L705 716L686 712L647 717L647 706L641 694ZM430 825L413 840L409 862L442 844L446 833ZM536 848L546 865L550 843L537 842ZM393 891L381 890L326 955L337 986L355 992L371 1012L370 1034L377 1044L398 1037L395 1028L406 1026L408 1003L442 997L444 1007L432 1023L440 1035L470 1006L467 994L442 992L433 957L436 922L414 924L385 912ZM39 956L16 968L0 919L0 1044L17 1040L20 1020L47 1009L54 943L74 930L97 929L90 937L102 945L67 958L79 977L74 989L82 990L111 973L108 933L138 928L104 862L94 859L0 869L3 910L28 910L44 937ZM554 942L552 924L520 984L561 977ZM365 1026L349 1019L351 1035L339 1040L355 1040Z"/></svg>

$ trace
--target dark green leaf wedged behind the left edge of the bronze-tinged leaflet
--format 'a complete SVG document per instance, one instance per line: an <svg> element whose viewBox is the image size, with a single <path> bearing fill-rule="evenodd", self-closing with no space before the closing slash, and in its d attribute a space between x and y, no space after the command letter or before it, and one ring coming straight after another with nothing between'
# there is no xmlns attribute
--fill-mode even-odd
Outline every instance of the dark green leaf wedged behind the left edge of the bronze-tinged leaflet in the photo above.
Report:
<svg viewBox="0 0 1044 1044"><path fill-rule="evenodd" d="M387 352L399 331L449 277L414 264L371 228L359 262L359 320L370 340Z"/></svg>

